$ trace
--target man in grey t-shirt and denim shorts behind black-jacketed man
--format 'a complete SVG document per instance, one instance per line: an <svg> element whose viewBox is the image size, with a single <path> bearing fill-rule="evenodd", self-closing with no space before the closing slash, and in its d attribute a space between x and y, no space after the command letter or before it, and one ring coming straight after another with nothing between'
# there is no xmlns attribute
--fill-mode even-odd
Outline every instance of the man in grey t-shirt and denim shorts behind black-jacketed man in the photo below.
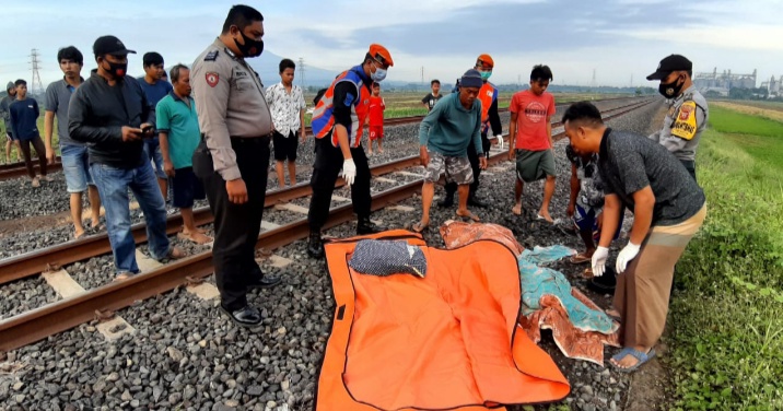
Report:
<svg viewBox="0 0 783 411"><path fill-rule="evenodd" d="M61 48L57 52L57 61L65 74L62 80L56 81L46 87L46 114L44 115L44 143L46 144L46 158L49 164L55 162L55 148L52 145L52 131L55 117L57 117L57 138L60 145L62 174L66 176L66 186L71 196L71 219L73 220L75 238L84 235L82 225L82 192L87 191L90 209L92 210L92 226L97 227L101 215L101 197L90 174L86 144L71 139L68 132L68 107L71 95L84 79L81 78L84 57L73 46Z"/></svg>

